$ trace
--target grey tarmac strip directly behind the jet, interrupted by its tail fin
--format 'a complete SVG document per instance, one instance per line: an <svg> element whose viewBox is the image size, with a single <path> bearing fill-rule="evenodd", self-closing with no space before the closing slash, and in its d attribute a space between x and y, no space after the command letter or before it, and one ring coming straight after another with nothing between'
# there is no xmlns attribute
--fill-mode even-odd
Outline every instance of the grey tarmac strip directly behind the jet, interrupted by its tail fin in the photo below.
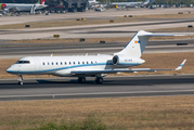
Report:
<svg viewBox="0 0 194 130"><path fill-rule="evenodd" d="M20 58L23 56L54 55L93 55L113 54L121 51L128 42L109 43L0 43L0 58ZM189 46L177 46L187 43ZM194 52L194 40L148 41L143 53Z"/></svg>

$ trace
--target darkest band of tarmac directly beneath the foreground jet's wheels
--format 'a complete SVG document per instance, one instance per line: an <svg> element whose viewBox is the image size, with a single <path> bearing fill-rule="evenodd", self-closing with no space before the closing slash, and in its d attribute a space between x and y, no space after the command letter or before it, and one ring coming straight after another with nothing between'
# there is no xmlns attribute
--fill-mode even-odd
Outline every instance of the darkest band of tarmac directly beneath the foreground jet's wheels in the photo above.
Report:
<svg viewBox="0 0 194 130"><path fill-rule="evenodd" d="M17 84L16 82L8 82L8 83L0 83L0 90L1 89L30 89L30 88L81 88L81 87L135 87L135 86L176 86L176 84L187 84L187 83L194 83L193 78L163 78L163 79L155 79L155 78L148 78L148 79L139 79L139 78L118 78L117 80L114 79L106 79L104 78L104 82L99 84L95 83L94 80L87 80L85 83L79 83L77 79L73 80L41 80L38 79L36 81L24 81L23 86Z"/></svg>

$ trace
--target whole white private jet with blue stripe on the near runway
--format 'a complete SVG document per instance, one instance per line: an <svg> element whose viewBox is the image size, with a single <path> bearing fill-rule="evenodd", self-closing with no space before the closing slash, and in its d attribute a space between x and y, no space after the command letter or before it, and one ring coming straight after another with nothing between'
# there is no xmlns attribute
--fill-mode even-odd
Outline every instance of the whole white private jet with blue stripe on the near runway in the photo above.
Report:
<svg viewBox="0 0 194 130"><path fill-rule="evenodd" d="M140 30L129 41L120 52L113 55L96 54L82 56L27 56L22 57L11 65L7 73L20 77L18 84L23 84L23 75L53 75L60 77L78 77L79 82L86 82L86 77L95 77L96 83L103 82L103 77L107 74L137 73L137 72L158 72L158 70L180 70L186 60L174 69L151 69L132 68L143 64L141 58L143 50L150 37L169 37L181 35L152 34Z"/></svg>

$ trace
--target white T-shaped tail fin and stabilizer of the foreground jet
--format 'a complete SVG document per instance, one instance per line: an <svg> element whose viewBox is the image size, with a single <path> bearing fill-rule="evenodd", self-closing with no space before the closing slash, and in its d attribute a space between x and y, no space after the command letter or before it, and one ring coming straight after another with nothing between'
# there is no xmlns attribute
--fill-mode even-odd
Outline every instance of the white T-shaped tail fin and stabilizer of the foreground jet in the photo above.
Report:
<svg viewBox="0 0 194 130"><path fill-rule="evenodd" d="M148 42L150 37L171 37L171 36L182 36L182 35L167 35L167 34L153 34L144 30L140 30L134 35L134 37L129 41L125 49L114 55L125 55L140 58L145 46Z"/></svg>

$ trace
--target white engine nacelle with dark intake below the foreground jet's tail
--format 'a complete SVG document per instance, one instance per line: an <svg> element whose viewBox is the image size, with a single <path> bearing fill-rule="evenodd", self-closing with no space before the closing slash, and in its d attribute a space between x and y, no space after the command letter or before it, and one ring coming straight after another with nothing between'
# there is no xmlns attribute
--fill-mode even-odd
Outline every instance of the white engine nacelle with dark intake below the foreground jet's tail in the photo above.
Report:
<svg viewBox="0 0 194 130"><path fill-rule="evenodd" d="M113 65L126 65L126 66L134 66L144 63L144 60L130 57L125 55L114 55L112 63Z"/></svg>

